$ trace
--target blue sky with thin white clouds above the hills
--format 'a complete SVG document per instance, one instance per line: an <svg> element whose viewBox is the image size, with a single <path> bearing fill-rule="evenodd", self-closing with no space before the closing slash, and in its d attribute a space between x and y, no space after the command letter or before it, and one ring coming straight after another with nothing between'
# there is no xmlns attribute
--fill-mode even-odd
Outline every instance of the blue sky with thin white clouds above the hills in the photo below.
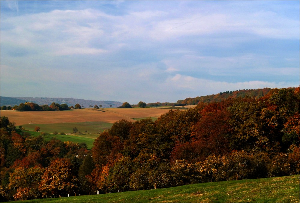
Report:
<svg viewBox="0 0 300 203"><path fill-rule="evenodd" d="M137 104L298 87L299 1L0 1L0 94Z"/></svg>

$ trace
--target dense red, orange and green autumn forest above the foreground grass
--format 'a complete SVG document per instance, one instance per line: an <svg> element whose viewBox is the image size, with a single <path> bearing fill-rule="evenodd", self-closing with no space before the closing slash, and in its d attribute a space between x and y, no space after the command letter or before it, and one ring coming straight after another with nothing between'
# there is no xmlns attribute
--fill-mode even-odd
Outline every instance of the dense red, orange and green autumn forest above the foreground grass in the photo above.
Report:
<svg viewBox="0 0 300 203"><path fill-rule="evenodd" d="M119 120L84 143L44 141L1 117L1 202L299 173L299 87Z"/></svg>

